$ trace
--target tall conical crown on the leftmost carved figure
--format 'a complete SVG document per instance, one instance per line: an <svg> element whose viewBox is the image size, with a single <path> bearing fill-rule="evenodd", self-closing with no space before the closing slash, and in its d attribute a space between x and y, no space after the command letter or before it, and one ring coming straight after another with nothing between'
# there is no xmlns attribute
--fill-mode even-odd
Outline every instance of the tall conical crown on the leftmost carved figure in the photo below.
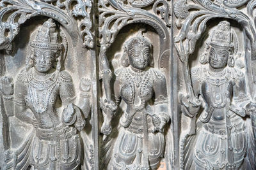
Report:
<svg viewBox="0 0 256 170"><path fill-rule="evenodd" d="M42 27L38 28L35 39L31 41L31 46L49 50L61 50L63 48L63 45L59 43L56 24L52 19L47 20Z"/></svg>

